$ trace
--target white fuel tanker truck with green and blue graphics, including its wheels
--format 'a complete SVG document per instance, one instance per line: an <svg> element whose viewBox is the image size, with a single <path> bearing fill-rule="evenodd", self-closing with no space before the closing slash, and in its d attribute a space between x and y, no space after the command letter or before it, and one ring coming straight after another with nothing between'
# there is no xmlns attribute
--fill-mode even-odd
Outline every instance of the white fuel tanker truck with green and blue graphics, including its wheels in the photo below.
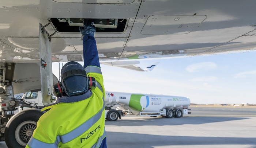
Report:
<svg viewBox="0 0 256 148"><path fill-rule="evenodd" d="M155 94L106 91L106 119L116 121L125 114L138 116L182 117L188 114L189 98Z"/></svg>

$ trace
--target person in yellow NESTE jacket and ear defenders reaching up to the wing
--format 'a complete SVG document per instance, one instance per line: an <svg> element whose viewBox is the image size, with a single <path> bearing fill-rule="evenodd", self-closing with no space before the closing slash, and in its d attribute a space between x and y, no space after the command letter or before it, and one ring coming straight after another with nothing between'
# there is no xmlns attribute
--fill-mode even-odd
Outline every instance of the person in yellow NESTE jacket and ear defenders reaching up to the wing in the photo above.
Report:
<svg viewBox="0 0 256 148"><path fill-rule="evenodd" d="M105 89L94 39L95 27L84 20L84 65L68 62L61 69L62 97L42 110L26 148L106 148ZM97 87L90 90L90 77ZM59 87L59 86L58 86ZM89 87L89 90L88 90Z"/></svg>

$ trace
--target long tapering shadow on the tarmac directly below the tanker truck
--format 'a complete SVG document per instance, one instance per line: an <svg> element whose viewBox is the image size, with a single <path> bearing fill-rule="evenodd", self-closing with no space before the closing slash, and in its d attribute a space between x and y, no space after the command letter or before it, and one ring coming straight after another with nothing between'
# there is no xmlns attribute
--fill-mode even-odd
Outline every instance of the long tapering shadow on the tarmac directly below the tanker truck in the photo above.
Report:
<svg viewBox="0 0 256 148"><path fill-rule="evenodd" d="M145 125L183 125L183 124L205 124L213 122L225 122L234 120L245 120L245 117L182 117L182 118L165 118L165 117L150 117L140 118L138 120L118 119L117 121L106 120L105 125L116 126L145 126Z"/></svg>

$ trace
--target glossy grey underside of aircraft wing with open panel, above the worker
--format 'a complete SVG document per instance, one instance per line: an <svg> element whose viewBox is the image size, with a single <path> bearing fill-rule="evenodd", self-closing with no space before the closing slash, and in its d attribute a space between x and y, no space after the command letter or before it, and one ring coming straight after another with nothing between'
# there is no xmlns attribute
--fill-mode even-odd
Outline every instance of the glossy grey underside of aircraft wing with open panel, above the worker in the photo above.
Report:
<svg viewBox="0 0 256 148"><path fill-rule="evenodd" d="M38 62L38 24L52 36L52 60L83 61L78 27L96 26L100 61L255 51L255 0L2 0L0 61Z"/></svg>

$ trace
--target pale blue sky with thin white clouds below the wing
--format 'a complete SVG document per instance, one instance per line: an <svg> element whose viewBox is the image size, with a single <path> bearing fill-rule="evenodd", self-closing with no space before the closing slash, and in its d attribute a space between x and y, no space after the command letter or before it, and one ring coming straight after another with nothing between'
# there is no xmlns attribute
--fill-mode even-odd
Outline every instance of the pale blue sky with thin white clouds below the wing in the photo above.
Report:
<svg viewBox="0 0 256 148"><path fill-rule="evenodd" d="M140 61L150 72L101 65L107 91L188 97L197 104L256 104L256 52ZM53 64L59 77L59 64Z"/></svg>

